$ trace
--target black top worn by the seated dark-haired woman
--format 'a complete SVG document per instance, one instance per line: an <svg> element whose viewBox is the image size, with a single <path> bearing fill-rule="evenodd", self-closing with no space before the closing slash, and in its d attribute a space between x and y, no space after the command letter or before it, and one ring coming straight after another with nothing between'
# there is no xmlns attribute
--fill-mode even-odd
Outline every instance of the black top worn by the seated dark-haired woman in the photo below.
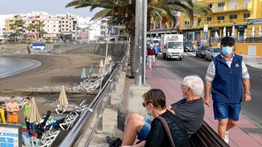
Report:
<svg viewBox="0 0 262 147"><path fill-rule="evenodd" d="M169 110L160 115L169 127L175 147L188 147L189 139L183 122ZM145 147L169 147L171 143L162 122L155 118L146 138Z"/></svg>

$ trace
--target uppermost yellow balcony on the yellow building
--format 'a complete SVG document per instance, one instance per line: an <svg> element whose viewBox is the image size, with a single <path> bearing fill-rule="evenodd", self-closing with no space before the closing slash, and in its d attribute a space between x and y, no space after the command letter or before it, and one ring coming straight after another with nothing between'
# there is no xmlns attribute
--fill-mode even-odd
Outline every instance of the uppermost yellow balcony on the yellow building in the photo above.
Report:
<svg viewBox="0 0 262 147"><path fill-rule="evenodd" d="M249 2L250 3L250 2ZM251 10L251 4L241 4L241 5L233 5L233 6L224 6L224 7L215 7L212 8L212 12L224 12L224 11L236 11L236 10Z"/></svg>

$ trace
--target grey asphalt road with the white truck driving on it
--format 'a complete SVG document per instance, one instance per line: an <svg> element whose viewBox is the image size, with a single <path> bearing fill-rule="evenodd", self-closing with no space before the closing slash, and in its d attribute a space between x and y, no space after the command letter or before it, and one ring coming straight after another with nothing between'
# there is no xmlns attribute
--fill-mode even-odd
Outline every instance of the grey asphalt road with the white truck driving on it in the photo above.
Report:
<svg viewBox="0 0 262 147"><path fill-rule="evenodd" d="M164 67L169 69L169 71L178 74L180 77L185 77L186 75L196 74L199 75L202 80L205 80L205 74L210 61L205 59L199 59L195 56L195 52L185 53L185 57L182 61L172 59L166 61L163 59L162 55L159 55L157 61L159 61ZM241 113L252 122L256 122L261 127L262 126L262 70L254 69L248 67L248 72L250 76L251 83L251 97L250 102L242 102Z"/></svg>

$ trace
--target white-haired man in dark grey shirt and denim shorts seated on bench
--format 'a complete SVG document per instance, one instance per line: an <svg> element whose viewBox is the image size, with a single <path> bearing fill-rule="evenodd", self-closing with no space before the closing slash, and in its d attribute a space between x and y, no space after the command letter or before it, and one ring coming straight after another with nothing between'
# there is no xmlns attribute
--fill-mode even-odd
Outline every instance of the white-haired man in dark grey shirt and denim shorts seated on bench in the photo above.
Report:
<svg viewBox="0 0 262 147"><path fill-rule="evenodd" d="M183 99L167 105L166 108L180 118L185 124L188 137L191 137L203 124L205 109L200 95L203 93L204 83L197 75L187 76L181 90ZM131 146L136 138L145 140L151 129L151 122L138 113L132 113L127 119L122 145Z"/></svg>

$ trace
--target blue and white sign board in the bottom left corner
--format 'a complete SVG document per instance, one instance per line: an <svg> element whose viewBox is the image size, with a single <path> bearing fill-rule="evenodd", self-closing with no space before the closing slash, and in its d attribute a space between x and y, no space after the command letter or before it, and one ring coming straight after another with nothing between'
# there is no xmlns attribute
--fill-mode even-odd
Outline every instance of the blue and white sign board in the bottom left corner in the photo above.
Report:
<svg viewBox="0 0 262 147"><path fill-rule="evenodd" d="M22 126L0 124L0 147L22 147Z"/></svg>

